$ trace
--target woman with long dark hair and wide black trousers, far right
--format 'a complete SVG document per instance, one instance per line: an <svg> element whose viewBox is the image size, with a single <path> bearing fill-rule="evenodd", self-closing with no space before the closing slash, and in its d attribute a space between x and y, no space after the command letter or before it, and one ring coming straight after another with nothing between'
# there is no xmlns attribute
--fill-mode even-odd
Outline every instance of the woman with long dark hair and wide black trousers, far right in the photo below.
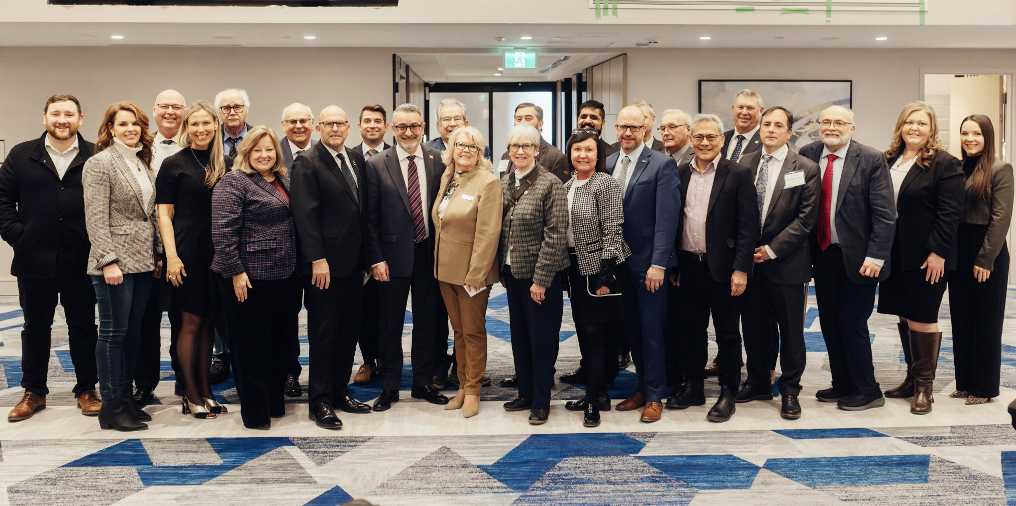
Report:
<svg viewBox="0 0 1016 506"><path fill-rule="evenodd" d="M1002 321L1009 281L1006 233L1013 214L1013 166L996 157L995 127L982 114L960 122L966 209L959 224L959 258L949 279L956 391L966 405L999 395Z"/></svg>

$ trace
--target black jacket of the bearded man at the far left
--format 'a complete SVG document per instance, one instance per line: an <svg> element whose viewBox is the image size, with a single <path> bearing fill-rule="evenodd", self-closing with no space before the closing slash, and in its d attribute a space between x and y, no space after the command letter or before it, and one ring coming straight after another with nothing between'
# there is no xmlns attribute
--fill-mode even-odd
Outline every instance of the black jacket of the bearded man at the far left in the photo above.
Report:
<svg viewBox="0 0 1016 506"><path fill-rule="evenodd" d="M81 171L96 145L78 133L77 155L61 180L46 135L15 145L0 168L0 237L14 248L11 275L84 275L91 244Z"/></svg>

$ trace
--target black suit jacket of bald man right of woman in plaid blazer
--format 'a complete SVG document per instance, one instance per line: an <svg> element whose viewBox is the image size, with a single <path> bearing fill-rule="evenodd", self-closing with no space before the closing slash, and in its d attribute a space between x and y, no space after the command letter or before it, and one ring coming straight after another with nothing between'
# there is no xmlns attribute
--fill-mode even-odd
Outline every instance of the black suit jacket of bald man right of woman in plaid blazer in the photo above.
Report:
<svg viewBox="0 0 1016 506"><path fill-rule="evenodd" d="M331 276L346 276L364 269L363 212L367 198L364 156L347 147L350 169L357 176L353 189L324 142L318 142L293 162L293 219L303 245L303 272L311 262L326 259Z"/></svg>

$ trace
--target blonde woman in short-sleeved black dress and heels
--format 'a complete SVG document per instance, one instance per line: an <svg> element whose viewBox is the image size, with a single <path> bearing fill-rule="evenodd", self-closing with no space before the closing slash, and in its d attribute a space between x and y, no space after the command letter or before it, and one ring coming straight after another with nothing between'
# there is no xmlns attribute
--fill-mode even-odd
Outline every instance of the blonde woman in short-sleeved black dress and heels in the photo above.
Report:
<svg viewBox="0 0 1016 506"><path fill-rule="evenodd" d="M158 228L166 248L170 321L177 334L185 389L184 415L225 415L208 383L219 299L211 277L211 188L233 161L223 154L215 111L197 101L184 112L183 149L166 159L155 179Z"/></svg>

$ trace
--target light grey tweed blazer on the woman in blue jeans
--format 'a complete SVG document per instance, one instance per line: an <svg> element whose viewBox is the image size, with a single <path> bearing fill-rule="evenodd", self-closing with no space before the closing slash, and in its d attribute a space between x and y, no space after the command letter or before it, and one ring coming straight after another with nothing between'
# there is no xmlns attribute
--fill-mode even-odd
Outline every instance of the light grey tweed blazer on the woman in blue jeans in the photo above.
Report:
<svg viewBox="0 0 1016 506"><path fill-rule="evenodd" d="M155 174L145 171L151 181L151 198L141 202L141 187L132 168L114 146L96 153L84 163L84 218L91 251L87 273L102 275L103 267L120 264L125 274L154 270L163 252L155 217Z"/></svg>

